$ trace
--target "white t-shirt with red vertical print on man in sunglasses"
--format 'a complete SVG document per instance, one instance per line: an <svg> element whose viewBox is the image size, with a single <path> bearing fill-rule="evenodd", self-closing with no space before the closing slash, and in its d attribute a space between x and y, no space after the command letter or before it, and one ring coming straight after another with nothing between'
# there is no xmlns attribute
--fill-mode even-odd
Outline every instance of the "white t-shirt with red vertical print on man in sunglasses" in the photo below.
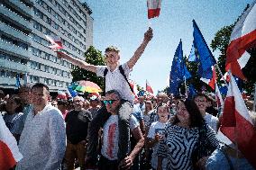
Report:
<svg viewBox="0 0 256 170"><path fill-rule="evenodd" d="M140 123L132 115L130 120L131 131L140 126ZM109 160L117 160L118 152L118 115L111 115L103 127L103 145L101 154Z"/></svg>

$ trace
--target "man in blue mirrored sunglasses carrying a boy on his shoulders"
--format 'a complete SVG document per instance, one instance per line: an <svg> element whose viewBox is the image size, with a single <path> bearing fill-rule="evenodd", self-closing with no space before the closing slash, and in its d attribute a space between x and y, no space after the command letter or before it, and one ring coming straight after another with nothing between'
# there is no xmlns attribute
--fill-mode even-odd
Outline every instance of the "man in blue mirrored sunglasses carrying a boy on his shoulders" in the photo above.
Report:
<svg viewBox="0 0 256 170"><path fill-rule="evenodd" d="M105 121L103 126L102 148L100 151L98 169L130 169L130 167L133 166L134 158L139 154L144 144L140 123L134 116L129 119L129 130L131 130L136 143L133 150L131 152L128 150L127 156L120 160L120 157L118 156L118 143L120 143L119 136L121 134L119 132L120 124L118 112L123 100L117 91L111 90L106 92L104 103L107 111L105 114L109 114L109 118ZM128 143L130 144L130 141L128 141Z"/></svg>

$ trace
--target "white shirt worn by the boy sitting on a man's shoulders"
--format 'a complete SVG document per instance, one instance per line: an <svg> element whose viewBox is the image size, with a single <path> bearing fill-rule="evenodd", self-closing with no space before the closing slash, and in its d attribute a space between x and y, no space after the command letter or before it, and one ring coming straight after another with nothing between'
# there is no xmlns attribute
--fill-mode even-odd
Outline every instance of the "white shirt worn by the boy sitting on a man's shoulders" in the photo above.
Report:
<svg viewBox="0 0 256 170"><path fill-rule="evenodd" d="M132 69L128 67L127 63L124 63L122 67L124 75L127 77L127 79L129 79L129 73L132 71ZM106 66L97 66L96 76L104 77L105 68ZM116 90L121 95L122 99L133 103L133 93L124 76L120 73L119 66L117 66L114 71L110 71L109 67L107 68L108 71L105 76L105 92Z"/></svg>

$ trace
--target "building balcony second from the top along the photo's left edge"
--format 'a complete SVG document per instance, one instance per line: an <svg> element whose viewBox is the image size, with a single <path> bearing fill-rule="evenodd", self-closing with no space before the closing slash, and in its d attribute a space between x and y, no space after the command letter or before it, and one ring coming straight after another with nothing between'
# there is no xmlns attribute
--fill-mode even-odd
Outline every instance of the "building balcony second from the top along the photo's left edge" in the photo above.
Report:
<svg viewBox="0 0 256 170"><path fill-rule="evenodd" d="M6 25L3 22L0 22L0 31L3 31L9 35L14 36L16 39L21 40L23 42L32 43L32 38L28 35L23 34L22 31L18 31L16 29L14 29L13 27Z"/></svg>

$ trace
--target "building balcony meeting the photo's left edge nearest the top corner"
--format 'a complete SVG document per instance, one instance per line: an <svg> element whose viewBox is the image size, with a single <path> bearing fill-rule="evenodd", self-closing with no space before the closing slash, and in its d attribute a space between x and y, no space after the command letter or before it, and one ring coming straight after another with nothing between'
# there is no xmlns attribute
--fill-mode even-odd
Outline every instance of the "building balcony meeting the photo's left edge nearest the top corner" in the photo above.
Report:
<svg viewBox="0 0 256 170"><path fill-rule="evenodd" d="M12 20L14 20L15 22L23 25L24 28L27 28L32 31L31 22L28 22L25 19L23 19L23 17L19 16L18 14L13 13L9 9L7 9L3 4L0 4L0 13L1 13L1 15L5 15L5 16L11 18Z"/></svg>

